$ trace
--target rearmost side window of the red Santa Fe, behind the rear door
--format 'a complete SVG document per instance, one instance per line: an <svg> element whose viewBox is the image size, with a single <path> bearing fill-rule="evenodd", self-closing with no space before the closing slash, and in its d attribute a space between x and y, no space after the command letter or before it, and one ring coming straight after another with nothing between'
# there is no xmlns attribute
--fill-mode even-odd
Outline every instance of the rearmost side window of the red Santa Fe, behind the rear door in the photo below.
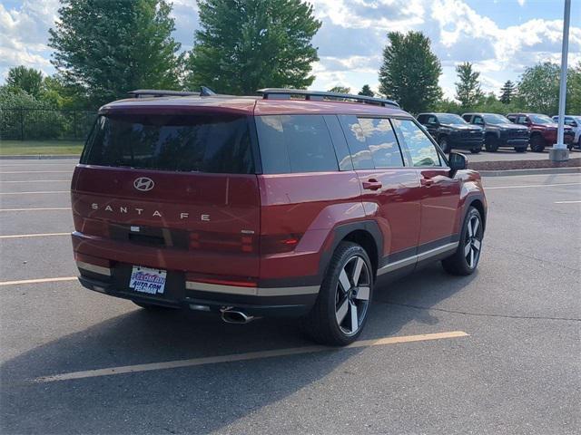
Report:
<svg viewBox="0 0 581 435"><path fill-rule="evenodd" d="M322 116L265 115L255 119L265 174L339 170Z"/></svg>

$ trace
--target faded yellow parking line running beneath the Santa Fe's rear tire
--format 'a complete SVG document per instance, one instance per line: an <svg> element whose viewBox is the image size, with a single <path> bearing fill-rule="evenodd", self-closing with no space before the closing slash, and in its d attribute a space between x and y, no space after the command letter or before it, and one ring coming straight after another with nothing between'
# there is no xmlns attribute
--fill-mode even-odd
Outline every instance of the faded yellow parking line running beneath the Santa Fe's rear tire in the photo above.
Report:
<svg viewBox="0 0 581 435"><path fill-rule="evenodd" d="M442 340L445 338L466 337L468 333L463 331L452 331L449 333L421 333L419 335L405 335L399 337L385 337L375 340L361 340L346 346L347 349L360 347L383 346L386 344L424 342L428 340ZM299 355L303 353L341 351L345 348L335 348L328 346L305 346L292 347L289 349L275 349L271 351L234 353L231 355L208 356L205 358L193 358L190 360L176 360L167 362L152 362L147 364L124 365L120 367L109 367L106 369L86 370L83 372L68 372L42 376L34 379L34 382L56 382L68 381L72 379L95 378L99 376L112 376L113 374L151 372L154 370L176 369L180 367L192 367L196 365L217 364L220 362L249 361L261 358L273 358L277 356Z"/></svg>

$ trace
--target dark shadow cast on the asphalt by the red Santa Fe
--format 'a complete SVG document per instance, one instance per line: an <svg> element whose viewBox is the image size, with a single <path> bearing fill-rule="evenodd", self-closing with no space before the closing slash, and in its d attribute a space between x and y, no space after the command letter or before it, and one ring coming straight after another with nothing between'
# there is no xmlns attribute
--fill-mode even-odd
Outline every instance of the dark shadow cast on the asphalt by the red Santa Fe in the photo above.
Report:
<svg viewBox="0 0 581 435"><path fill-rule="evenodd" d="M450 277L434 265L382 285L361 339L397 335L410 322L437 325L438 317L428 311L386 302L429 307L462 291L474 277ZM440 331L437 327L419 331L432 332ZM29 381L54 373L310 344L292 320L232 325L207 314L151 314L136 308L5 362L0 368L0 429L3 433L221 430L313 382L324 382L362 349L75 381Z"/></svg>

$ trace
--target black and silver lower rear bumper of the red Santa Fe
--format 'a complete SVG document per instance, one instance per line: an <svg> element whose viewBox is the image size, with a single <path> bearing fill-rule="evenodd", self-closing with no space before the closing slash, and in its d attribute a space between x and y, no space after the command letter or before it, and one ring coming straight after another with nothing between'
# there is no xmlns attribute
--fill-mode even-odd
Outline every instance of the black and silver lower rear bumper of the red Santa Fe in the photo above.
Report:
<svg viewBox="0 0 581 435"><path fill-rule="evenodd" d="M152 296L129 288L129 265L111 269L86 265L77 264L81 273L79 281L89 290L173 308L219 313L230 307L255 316L300 316L310 311L319 294L319 287L314 285L276 288L210 285L186 281L184 274L168 271L164 294Z"/></svg>

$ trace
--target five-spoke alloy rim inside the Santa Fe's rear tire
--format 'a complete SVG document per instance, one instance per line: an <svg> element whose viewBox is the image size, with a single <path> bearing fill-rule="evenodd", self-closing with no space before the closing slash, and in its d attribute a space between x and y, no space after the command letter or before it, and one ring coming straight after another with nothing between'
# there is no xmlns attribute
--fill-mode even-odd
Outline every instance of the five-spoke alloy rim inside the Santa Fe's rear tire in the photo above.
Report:
<svg viewBox="0 0 581 435"><path fill-rule="evenodd" d="M353 335L367 315L371 275L361 256L352 256L341 269L335 292L335 317L340 330Z"/></svg>

